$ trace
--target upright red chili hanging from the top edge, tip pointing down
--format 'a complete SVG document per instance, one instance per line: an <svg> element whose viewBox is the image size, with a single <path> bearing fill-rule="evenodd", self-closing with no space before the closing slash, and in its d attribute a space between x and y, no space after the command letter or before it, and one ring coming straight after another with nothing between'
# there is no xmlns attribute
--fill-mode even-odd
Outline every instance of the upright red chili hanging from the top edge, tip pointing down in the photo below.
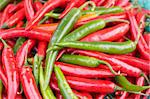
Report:
<svg viewBox="0 0 150 99"><path fill-rule="evenodd" d="M24 0L24 9L25 9L25 15L28 21L30 21L34 15L34 9L33 9L33 1L32 0Z"/></svg>

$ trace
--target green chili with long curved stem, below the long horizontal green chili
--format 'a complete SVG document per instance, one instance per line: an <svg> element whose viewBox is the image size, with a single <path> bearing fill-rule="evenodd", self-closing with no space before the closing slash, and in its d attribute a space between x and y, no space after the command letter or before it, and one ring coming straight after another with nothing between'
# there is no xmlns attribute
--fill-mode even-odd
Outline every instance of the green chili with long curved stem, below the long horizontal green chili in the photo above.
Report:
<svg viewBox="0 0 150 99"><path fill-rule="evenodd" d="M93 57L63 54L59 61L87 67L98 67L100 64L105 64L113 74L117 75L108 62Z"/></svg>

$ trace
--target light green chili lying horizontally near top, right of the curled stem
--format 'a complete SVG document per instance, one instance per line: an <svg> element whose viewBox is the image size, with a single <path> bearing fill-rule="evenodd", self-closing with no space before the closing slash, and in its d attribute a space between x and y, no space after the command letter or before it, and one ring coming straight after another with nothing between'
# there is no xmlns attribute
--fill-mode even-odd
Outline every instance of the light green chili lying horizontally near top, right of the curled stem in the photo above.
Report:
<svg viewBox="0 0 150 99"><path fill-rule="evenodd" d="M82 14L97 14L97 15L102 15L102 14L109 14L109 13L119 13L123 12L123 8L121 7L110 7L110 8L105 8L105 7L98 7L94 11L91 10L84 10L82 11Z"/></svg>

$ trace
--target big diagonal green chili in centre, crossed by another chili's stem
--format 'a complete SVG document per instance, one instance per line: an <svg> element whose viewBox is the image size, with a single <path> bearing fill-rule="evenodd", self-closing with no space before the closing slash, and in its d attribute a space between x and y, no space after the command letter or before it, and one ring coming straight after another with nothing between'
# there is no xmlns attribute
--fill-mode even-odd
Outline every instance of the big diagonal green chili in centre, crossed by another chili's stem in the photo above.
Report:
<svg viewBox="0 0 150 99"><path fill-rule="evenodd" d="M78 20L80 17L81 10L77 8L73 8L60 22L57 29L54 32L54 35L52 39L49 42L49 47L54 46L55 42L60 42L60 40L68 34L72 28L74 23ZM52 73L52 69L54 66L55 59L57 57L58 51L51 51L48 52L46 55L46 69L45 69L45 85L44 89L49 84L50 76ZM49 61L51 60L51 61Z"/></svg>

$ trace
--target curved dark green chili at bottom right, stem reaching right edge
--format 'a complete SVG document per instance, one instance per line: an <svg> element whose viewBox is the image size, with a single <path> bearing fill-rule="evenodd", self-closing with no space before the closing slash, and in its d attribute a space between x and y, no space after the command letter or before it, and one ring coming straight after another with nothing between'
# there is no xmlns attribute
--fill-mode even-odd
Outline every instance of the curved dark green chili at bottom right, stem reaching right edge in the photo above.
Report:
<svg viewBox="0 0 150 99"><path fill-rule="evenodd" d="M118 84L120 84L124 90L126 91L133 91L133 92L140 92L143 91L145 89L150 88L150 86L137 86L134 85L132 83L130 83L126 77L119 75L115 77L116 82L118 82Z"/></svg>

